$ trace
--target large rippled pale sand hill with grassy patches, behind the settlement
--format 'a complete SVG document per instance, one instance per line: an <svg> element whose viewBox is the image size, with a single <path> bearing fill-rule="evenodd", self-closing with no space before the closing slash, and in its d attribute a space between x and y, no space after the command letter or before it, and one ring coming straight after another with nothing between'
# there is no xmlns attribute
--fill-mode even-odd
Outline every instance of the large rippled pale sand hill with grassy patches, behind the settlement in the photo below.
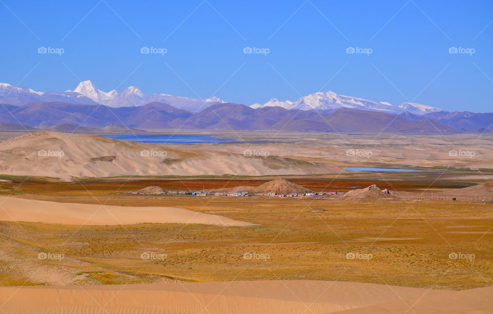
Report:
<svg viewBox="0 0 493 314"><path fill-rule="evenodd" d="M34 132L0 142L0 174L70 180L71 177L340 172L338 167L320 163L245 157L243 153L188 147L120 141L87 134Z"/></svg>

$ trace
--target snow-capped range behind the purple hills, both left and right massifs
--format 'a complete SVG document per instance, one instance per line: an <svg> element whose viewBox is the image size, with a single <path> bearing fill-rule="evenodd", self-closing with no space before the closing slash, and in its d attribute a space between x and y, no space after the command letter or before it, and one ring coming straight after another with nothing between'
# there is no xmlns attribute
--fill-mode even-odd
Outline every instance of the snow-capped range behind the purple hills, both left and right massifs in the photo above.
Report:
<svg viewBox="0 0 493 314"><path fill-rule="evenodd" d="M74 104L103 104L109 107L134 107L142 106L151 102L161 102L172 105L179 109L198 112L201 109L223 100L212 97L205 100L173 96L167 94L153 94L146 96L136 86L124 88L120 93L115 89L108 92L98 89L91 81L80 82L74 90L66 90L63 93L50 91L44 93L30 88L18 88L6 83L0 83L0 102L12 105L25 105L31 102L68 102ZM253 104L254 109L278 106L288 110L331 110L337 108L362 109L399 115L404 112L413 115L424 115L432 112L443 112L443 109L423 104L402 103L394 106L388 102L375 102L368 99L337 95L333 91L318 92L308 96L300 97L296 101L279 101L271 99L267 103Z"/></svg>

